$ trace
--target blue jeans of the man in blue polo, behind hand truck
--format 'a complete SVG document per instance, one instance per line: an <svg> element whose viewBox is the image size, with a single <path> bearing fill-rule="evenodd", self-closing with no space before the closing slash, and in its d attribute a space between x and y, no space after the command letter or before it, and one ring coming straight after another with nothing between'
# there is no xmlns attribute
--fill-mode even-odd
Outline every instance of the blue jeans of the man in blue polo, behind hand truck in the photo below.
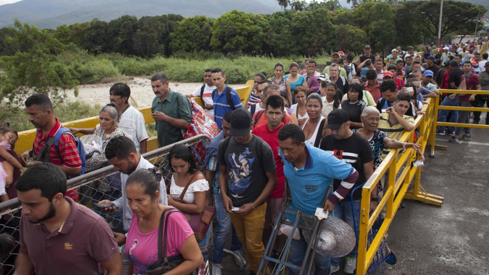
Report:
<svg viewBox="0 0 489 275"><path fill-rule="evenodd" d="M289 249L289 258L287 260L288 263L295 264L297 266L301 266L304 260L304 255L308 251L307 250L307 242L304 239L304 235L302 235L302 230L300 230L301 239L300 240L292 240L291 248ZM314 275L329 275L331 271L331 263L330 257L320 255L318 253L314 256ZM299 270L289 268L289 275L298 275Z"/></svg>

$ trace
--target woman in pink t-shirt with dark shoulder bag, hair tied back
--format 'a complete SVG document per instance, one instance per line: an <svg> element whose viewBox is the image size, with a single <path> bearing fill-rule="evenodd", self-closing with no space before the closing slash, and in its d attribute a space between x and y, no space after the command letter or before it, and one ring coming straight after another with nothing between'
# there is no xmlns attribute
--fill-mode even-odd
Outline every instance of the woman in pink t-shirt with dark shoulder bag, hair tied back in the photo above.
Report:
<svg viewBox="0 0 489 275"><path fill-rule="evenodd" d="M166 234L158 230L161 214L169 208L158 203L160 179L155 168L139 169L126 182L126 197L133 212L124 251L131 260L127 274L147 274L148 267L158 261L159 235L167 244L168 257L181 255L184 259L166 274L190 274L203 262L195 235L182 213L170 214Z"/></svg>

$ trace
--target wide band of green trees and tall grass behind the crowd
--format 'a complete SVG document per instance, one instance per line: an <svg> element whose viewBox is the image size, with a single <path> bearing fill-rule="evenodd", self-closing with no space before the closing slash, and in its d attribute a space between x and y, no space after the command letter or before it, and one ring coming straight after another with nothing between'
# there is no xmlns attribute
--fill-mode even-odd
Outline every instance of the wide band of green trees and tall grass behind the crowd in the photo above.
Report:
<svg viewBox="0 0 489 275"><path fill-rule="evenodd" d="M244 83L257 72L271 76L276 62L287 67L312 57L324 63L338 50L359 54L365 44L388 54L399 45L436 41L439 0L351 2L354 8L347 10L337 0L309 5L280 0L284 10L271 15L236 10L217 19L124 15L56 30L15 20L0 29L0 67L6 70L0 104L21 105L32 92L59 103L78 84L156 71L172 81L200 82L203 69L219 66L228 83ZM289 4L294 10L285 10ZM477 14L487 11L464 2L444 5L442 38L473 31Z"/></svg>

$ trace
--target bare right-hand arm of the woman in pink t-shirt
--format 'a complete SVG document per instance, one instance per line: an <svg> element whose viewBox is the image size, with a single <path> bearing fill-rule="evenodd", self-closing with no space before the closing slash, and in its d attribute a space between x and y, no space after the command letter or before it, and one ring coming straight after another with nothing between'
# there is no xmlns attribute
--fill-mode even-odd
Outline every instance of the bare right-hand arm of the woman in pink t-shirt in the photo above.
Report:
<svg viewBox="0 0 489 275"><path fill-rule="evenodd" d="M185 261L165 273L166 275L190 274L203 263L202 253L200 253L200 249L198 248L197 241L193 234L185 240L185 243L183 243L179 252Z"/></svg>

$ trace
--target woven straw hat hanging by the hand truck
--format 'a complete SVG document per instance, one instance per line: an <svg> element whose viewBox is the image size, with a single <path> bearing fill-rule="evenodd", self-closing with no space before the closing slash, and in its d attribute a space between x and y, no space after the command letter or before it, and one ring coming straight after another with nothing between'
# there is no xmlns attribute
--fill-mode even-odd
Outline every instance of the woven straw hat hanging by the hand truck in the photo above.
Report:
<svg viewBox="0 0 489 275"><path fill-rule="evenodd" d="M329 216L322 222L316 253L328 257L343 257L355 247L356 238L353 229L344 221ZM303 230L304 238L309 241L312 231Z"/></svg>

